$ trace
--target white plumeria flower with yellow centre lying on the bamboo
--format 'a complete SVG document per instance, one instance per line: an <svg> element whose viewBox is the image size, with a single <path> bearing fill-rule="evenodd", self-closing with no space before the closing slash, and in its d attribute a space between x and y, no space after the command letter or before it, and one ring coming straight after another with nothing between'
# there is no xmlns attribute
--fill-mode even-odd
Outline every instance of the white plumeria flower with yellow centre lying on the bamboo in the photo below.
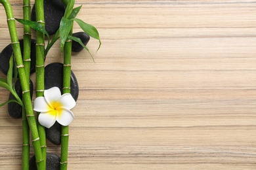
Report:
<svg viewBox="0 0 256 170"><path fill-rule="evenodd" d="M68 126L74 120L70 109L75 107L75 100L70 93L61 95L57 87L45 90L44 97L37 97L33 110L41 112L38 121L42 126L50 128L57 121L62 126Z"/></svg>

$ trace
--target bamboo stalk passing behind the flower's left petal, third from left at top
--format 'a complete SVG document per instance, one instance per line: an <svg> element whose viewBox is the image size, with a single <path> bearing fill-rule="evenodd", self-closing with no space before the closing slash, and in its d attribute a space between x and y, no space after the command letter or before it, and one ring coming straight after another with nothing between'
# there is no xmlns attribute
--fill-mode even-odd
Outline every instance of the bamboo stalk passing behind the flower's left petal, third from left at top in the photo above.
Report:
<svg viewBox="0 0 256 170"><path fill-rule="evenodd" d="M43 11L43 0L35 0L35 15L36 20L39 24L45 27L45 16ZM36 33L36 46L35 46L35 73L36 73L36 97L43 96L43 91L45 90L45 34L37 31ZM40 113L37 112L37 116ZM46 145L46 136L45 136L45 127L41 126L37 122L38 133L41 142L41 150L44 163L46 165L46 154L47 154L47 145Z"/></svg>

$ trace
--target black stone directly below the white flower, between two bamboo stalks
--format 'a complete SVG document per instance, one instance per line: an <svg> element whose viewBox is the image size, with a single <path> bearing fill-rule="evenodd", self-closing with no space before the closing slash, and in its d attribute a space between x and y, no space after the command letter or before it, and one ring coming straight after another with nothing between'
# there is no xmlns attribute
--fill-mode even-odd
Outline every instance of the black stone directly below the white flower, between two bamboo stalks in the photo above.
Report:
<svg viewBox="0 0 256 170"><path fill-rule="evenodd" d="M53 144L61 144L61 125L55 122L52 127L46 129L46 138Z"/></svg>

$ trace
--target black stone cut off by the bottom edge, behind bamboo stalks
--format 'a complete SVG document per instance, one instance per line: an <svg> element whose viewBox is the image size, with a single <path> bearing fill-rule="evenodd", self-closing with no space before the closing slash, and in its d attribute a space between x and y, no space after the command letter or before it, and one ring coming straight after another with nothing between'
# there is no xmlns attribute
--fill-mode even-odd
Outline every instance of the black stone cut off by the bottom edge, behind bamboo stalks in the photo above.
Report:
<svg viewBox="0 0 256 170"><path fill-rule="evenodd" d="M56 154L46 154L46 170L59 170L60 169L60 158ZM35 156L30 159L30 170L37 170L35 163Z"/></svg>

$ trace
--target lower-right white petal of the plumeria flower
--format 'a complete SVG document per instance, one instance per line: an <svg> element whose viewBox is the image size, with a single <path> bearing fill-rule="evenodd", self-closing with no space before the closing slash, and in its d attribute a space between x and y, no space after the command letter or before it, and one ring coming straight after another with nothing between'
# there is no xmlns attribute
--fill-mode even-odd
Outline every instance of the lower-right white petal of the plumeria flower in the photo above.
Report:
<svg viewBox="0 0 256 170"><path fill-rule="evenodd" d="M62 126L68 126L74 120L74 117L72 111L62 108L62 111L57 115L56 120Z"/></svg>

